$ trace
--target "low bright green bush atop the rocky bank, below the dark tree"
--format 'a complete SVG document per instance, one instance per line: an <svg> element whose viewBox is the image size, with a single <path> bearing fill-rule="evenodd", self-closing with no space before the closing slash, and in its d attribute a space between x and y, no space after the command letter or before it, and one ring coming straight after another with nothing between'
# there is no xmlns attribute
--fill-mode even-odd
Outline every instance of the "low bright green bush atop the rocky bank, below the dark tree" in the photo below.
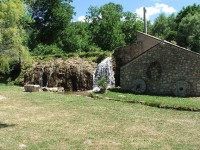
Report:
<svg viewBox="0 0 200 150"><path fill-rule="evenodd" d="M38 44L33 50L33 55L63 55L63 51L57 45L42 45Z"/></svg>

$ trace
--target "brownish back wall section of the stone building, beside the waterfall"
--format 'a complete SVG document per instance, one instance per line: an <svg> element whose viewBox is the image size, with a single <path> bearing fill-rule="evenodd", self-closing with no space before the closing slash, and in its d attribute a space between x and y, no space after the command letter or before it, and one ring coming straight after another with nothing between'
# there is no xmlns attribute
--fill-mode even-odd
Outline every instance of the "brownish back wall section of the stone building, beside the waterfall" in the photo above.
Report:
<svg viewBox="0 0 200 150"><path fill-rule="evenodd" d="M120 86L120 68L160 42L160 39L138 32L136 43L115 49L112 57L116 86Z"/></svg>

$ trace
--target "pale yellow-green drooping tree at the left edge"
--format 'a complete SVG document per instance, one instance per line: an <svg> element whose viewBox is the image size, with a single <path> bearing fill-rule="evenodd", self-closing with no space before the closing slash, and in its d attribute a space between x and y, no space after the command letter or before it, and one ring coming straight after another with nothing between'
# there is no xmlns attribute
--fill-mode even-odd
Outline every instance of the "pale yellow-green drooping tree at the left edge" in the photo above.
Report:
<svg viewBox="0 0 200 150"><path fill-rule="evenodd" d="M22 0L0 2L0 72L10 72L16 64L28 60L28 49L23 45L25 34L21 18L25 15Z"/></svg>

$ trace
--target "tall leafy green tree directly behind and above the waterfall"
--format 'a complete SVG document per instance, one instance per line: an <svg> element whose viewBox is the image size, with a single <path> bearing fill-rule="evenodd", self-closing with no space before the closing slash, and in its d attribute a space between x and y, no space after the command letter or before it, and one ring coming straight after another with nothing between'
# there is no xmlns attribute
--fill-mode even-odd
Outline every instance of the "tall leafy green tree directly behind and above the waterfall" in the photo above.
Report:
<svg viewBox="0 0 200 150"><path fill-rule="evenodd" d="M122 12L122 6L114 3L89 8L86 20L90 24L90 36L92 42L103 50L113 50L125 44L121 29Z"/></svg>

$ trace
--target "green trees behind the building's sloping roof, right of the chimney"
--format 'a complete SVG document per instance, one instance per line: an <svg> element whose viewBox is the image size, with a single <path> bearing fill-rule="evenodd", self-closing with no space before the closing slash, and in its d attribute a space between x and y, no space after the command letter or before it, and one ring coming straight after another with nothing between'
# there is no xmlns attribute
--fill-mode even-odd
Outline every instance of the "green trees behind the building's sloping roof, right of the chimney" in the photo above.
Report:
<svg viewBox="0 0 200 150"><path fill-rule="evenodd" d="M161 39L200 52L200 5L183 8L177 15L160 14L150 33Z"/></svg>

